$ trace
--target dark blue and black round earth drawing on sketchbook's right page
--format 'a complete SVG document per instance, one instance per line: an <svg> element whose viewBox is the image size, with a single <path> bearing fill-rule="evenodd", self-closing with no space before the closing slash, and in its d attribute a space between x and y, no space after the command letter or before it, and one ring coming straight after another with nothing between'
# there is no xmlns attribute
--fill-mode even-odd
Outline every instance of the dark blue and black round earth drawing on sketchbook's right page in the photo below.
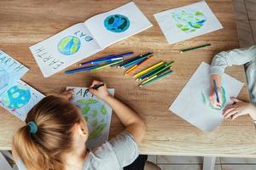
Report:
<svg viewBox="0 0 256 170"><path fill-rule="evenodd" d="M124 32L130 26L130 20L122 14L109 15L104 20L104 26L108 31Z"/></svg>

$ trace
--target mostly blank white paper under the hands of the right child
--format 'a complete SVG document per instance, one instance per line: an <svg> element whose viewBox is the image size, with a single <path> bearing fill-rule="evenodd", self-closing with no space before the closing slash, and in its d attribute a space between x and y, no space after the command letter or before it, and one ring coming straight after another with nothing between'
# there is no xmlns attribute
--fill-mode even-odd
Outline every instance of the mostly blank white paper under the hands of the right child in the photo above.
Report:
<svg viewBox="0 0 256 170"><path fill-rule="evenodd" d="M222 122L222 110L226 105L232 104L230 97L236 97L243 84L224 74L222 77L222 92L225 102L221 110L213 109L208 100L211 91L210 65L202 62L181 93L178 94L169 110L195 127L211 132Z"/></svg>

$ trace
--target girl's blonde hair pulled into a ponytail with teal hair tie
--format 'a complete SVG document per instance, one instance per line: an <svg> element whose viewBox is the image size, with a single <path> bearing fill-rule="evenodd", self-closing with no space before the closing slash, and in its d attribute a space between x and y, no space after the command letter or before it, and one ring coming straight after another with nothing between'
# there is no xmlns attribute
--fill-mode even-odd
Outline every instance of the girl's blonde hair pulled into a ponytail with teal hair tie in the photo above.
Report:
<svg viewBox="0 0 256 170"><path fill-rule="evenodd" d="M29 111L26 123L15 133L13 146L27 170L63 170L61 157L73 149L73 125L81 121L77 108L65 99L48 96Z"/></svg>

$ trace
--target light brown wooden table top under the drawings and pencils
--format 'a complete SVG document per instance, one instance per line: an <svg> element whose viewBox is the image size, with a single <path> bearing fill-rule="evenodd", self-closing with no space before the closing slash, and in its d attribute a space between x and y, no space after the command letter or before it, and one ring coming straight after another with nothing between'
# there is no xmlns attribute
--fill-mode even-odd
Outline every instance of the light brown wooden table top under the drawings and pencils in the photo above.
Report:
<svg viewBox="0 0 256 170"><path fill-rule="evenodd" d="M204 133L168 110L201 61L210 63L212 56L219 51L238 48L231 0L207 1L224 29L174 45L166 42L153 14L197 1L135 0L134 2L154 27L117 42L90 57L94 59L108 54L133 51L135 54L154 52L155 57L148 62L148 65L161 59L175 60L173 67L175 73L160 82L138 88L135 80L125 77L124 71L117 68L95 73L82 72L72 76L66 76L61 71L52 77L43 77L28 47L68 26L128 2L128 0L111 0L108 3L106 0L1 0L0 48L30 68L22 80L44 94L58 94L67 86L87 87L93 79L106 82L109 88L115 88L115 96L137 111L147 124L147 133L143 144L140 145L143 154L256 157L255 129L248 116L241 116L233 122L224 121L214 132ZM189 53L178 53L181 48L207 42L212 43L212 46ZM72 65L69 69L75 67L76 65ZM227 73L241 82L246 81L241 66L228 68ZM247 87L241 90L239 96L248 100ZM24 122L0 109L0 150L11 149L12 136L23 125ZM122 129L122 125L113 114L111 136Z"/></svg>

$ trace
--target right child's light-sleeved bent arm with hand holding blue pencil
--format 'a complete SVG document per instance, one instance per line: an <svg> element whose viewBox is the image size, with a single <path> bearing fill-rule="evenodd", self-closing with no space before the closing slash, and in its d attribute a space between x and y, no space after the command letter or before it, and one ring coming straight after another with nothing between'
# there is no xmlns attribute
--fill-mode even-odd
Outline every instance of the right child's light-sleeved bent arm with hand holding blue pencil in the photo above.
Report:
<svg viewBox="0 0 256 170"><path fill-rule="evenodd" d="M214 87L212 86L209 98L213 106L216 108L221 107L221 76L224 73L225 68L232 65L244 65L255 59L255 55L256 45L253 45L250 48L233 49L227 52L223 51L214 56L210 73L212 82L213 80L217 82L220 102L217 102L216 95L214 94Z"/></svg>

